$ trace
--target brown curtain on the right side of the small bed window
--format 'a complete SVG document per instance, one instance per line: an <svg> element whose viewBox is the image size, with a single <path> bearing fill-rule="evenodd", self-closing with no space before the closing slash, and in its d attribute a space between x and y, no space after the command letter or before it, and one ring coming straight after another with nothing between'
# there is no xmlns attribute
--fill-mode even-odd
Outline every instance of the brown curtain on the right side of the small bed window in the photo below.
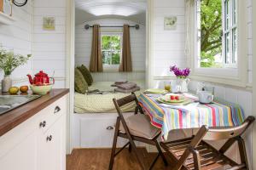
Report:
<svg viewBox="0 0 256 170"><path fill-rule="evenodd" d="M122 52L122 59L121 59L119 71L121 72L132 71L130 28L128 25L124 25L123 52Z"/></svg>

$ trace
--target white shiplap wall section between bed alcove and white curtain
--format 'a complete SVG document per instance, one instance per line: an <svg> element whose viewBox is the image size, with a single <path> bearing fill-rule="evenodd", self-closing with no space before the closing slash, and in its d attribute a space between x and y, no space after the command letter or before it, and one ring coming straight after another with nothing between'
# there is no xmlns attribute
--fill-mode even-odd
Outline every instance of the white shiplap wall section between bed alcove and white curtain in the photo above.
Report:
<svg viewBox="0 0 256 170"><path fill-rule="evenodd" d="M170 76L170 65L186 66L184 0L153 1L153 76ZM177 16L177 30L165 31L164 18Z"/></svg>

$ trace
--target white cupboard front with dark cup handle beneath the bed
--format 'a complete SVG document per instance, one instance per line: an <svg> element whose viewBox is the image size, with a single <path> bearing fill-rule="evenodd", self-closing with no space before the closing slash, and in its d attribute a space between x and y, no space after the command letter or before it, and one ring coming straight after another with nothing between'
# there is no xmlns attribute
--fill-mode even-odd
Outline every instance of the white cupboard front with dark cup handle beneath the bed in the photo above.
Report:
<svg viewBox="0 0 256 170"><path fill-rule="evenodd" d="M117 113L73 114L73 148L111 148L117 116ZM127 141L119 138L118 147Z"/></svg>

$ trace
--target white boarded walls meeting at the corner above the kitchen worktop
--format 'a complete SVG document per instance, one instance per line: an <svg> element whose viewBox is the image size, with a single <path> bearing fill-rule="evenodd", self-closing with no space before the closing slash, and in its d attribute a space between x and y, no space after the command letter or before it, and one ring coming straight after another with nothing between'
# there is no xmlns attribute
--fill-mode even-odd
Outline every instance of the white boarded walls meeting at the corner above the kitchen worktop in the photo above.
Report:
<svg viewBox="0 0 256 170"><path fill-rule="evenodd" d="M26 65L13 72L15 86L28 84L26 74L43 70L49 76L55 71L55 88L65 87L66 11L66 0L29 0L24 7L14 6L12 25L0 24L0 45L15 54L32 54ZM44 16L55 17L55 31L43 30Z"/></svg>

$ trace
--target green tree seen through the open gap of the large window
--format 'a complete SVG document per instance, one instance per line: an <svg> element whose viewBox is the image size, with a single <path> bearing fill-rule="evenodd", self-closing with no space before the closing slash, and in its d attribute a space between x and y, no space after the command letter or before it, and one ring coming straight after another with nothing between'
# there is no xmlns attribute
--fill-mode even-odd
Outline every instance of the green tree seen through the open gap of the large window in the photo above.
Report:
<svg viewBox="0 0 256 170"><path fill-rule="evenodd" d="M201 0L201 67L219 67L222 53L222 0Z"/></svg>

